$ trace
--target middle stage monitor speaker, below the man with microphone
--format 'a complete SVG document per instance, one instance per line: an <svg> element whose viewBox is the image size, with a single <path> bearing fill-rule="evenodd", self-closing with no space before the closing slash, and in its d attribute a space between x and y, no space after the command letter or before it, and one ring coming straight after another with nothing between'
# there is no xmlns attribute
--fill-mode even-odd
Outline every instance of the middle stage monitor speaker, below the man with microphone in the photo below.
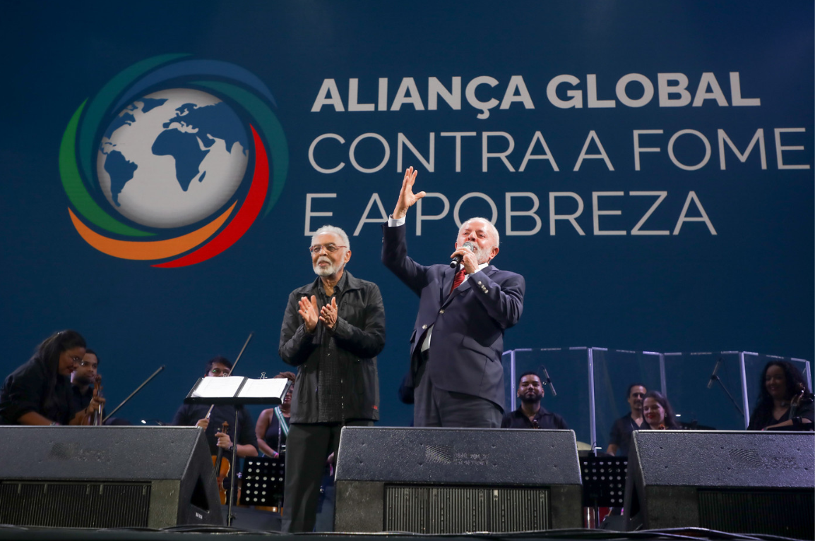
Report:
<svg viewBox="0 0 815 541"><path fill-rule="evenodd" d="M342 429L335 531L579 528L571 430Z"/></svg>

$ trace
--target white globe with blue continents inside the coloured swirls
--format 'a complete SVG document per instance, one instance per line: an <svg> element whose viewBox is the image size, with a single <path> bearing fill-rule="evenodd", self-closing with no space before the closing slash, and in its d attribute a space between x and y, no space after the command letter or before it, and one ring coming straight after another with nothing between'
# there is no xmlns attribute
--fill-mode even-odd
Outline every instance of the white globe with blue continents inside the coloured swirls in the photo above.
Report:
<svg viewBox="0 0 815 541"><path fill-rule="evenodd" d="M244 126L226 103L200 90L162 90L112 121L96 172L122 216L150 227L182 227L235 194L248 147Z"/></svg>

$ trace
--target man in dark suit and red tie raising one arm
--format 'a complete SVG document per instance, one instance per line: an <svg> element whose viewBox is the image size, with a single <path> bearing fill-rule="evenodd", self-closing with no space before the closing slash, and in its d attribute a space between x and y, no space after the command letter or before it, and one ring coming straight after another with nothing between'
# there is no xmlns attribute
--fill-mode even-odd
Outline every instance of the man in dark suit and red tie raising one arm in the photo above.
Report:
<svg viewBox="0 0 815 541"><path fill-rule="evenodd" d="M504 404L504 330L521 317L526 282L491 265L498 255L495 226L483 218L461 225L457 268L425 267L407 256L405 216L425 192L413 193L408 168L399 200L384 225L382 262L414 293L419 313L411 337L409 379L415 388L415 426L498 428ZM466 246L465 246L466 245Z"/></svg>

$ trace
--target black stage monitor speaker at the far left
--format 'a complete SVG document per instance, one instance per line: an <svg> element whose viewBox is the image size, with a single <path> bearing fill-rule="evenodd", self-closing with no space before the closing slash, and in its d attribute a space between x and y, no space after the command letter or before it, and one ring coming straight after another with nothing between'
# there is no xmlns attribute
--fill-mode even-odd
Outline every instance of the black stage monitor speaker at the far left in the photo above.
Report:
<svg viewBox="0 0 815 541"><path fill-rule="evenodd" d="M0 523L73 528L224 524L203 430L0 427Z"/></svg>

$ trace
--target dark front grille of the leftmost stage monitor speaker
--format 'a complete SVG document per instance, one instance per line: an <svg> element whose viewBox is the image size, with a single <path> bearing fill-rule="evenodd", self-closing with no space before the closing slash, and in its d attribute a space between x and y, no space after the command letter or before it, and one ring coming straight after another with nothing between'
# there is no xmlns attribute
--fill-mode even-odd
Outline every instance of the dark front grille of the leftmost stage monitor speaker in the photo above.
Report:
<svg viewBox="0 0 815 541"><path fill-rule="evenodd" d="M0 482L0 523L147 527L149 482Z"/></svg>

